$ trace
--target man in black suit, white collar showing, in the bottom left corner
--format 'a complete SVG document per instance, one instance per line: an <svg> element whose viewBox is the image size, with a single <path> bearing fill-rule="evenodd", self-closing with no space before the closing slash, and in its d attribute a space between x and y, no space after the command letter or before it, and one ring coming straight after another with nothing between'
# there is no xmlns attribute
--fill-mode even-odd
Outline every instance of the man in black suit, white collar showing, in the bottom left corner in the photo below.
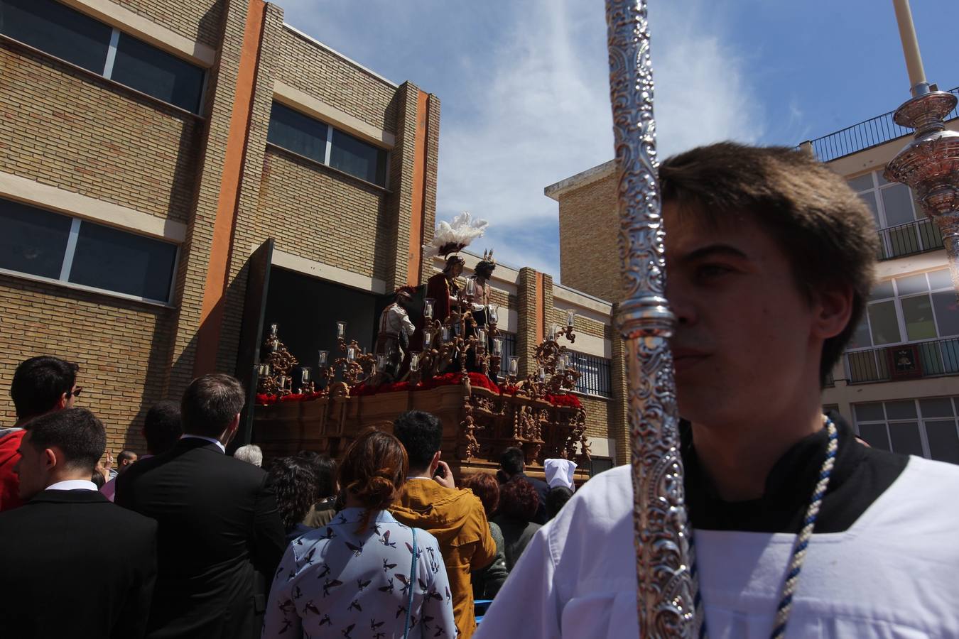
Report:
<svg viewBox="0 0 959 639"><path fill-rule="evenodd" d="M143 637L156 578L156 522L90 481L104 424L83 408L36 418L20 443L22 507L0 513L0 634Z"/></svg>

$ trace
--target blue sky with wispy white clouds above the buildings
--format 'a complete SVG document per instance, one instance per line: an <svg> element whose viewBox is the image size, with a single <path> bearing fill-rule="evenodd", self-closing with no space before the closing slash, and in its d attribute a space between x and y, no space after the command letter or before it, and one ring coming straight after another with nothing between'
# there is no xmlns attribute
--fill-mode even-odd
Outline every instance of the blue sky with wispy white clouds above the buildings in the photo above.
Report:
<svg viewBox="0 0 959 639"><path fill-rule="evenodd" d="M436 218L562 280L554 182L613 158L600 0L277 0L284 20L441 103ZM959 1L913 0L926 77L959 85ZM892 111L909 81L890 0L650 0L661 157L796 146ZM947 31L940 25L952 25Z"/></svg>

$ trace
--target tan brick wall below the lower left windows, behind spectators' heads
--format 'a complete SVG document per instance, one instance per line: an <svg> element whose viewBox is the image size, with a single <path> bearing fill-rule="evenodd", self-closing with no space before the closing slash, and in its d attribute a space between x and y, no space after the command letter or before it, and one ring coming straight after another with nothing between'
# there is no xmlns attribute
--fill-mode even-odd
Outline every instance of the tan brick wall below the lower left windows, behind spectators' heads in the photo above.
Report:
<svg viewBox="0 0 959 639"><path fill-rule="evenodd" d="M0 275L0 305L3 423L16 421L10 399L16 365L52 354L80 365L83 391L76 405L104 422L108 449L146 452L140 427L150 406L165 399L173 311L8 275Z"/></svg>

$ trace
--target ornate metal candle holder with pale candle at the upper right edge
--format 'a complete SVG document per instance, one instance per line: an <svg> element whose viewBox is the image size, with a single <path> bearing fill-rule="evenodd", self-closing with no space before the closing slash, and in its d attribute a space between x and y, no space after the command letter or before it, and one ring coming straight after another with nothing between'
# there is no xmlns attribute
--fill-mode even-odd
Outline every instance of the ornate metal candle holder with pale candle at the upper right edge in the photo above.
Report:
<svg viewBox="0 0 959 639"><path fill-rule="evenodd" d="M959 295L959 133L946 130L943 122L955 108L956 97L925 80L909 0L893 0L893 6L913 96L896 110L893 121L915 128L916 134L886 165L883 177L912 188L925 215L939 225L952 286Z"/></svg>

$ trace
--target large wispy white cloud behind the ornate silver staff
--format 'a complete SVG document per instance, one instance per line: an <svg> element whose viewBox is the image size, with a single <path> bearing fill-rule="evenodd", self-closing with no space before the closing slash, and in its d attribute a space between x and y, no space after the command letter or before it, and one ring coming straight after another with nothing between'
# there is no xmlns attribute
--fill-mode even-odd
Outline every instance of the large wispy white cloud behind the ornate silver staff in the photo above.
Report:
<svg viewBox="0 0 959 639"><path fill-rule="evenodd" d="M698 22L690 3L655 4L661 155L758 139L761 117L743 64L714 34L716 24ZM444 114L437 215L469 210L486 217L492 237L506 240L497 246L504 260L558 273L558 245L544 245L540 235L545 224L557 224L556 203L543 188L613 156L606 27L601 3L539 0L525 7L503 48L489 54L491 82L477 117L451 122Z"/></svg>

